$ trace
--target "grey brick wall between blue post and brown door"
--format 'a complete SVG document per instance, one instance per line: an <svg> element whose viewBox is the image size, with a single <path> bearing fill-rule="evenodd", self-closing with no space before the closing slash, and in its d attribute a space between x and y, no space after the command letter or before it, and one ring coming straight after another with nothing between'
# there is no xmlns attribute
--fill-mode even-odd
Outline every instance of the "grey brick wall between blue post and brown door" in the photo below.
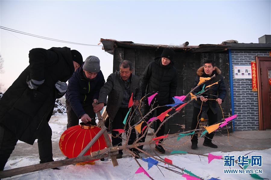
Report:
<svg viewBox="0 0 271 180"><path fill-rule="evenodd" d="M250 66L255 56L269 56L269 52L232 50L232 73L234 65ZM234 114L238 114L235 130L258 130L258 93L252 91L251 79L233 79L233 99Z"/></svg>

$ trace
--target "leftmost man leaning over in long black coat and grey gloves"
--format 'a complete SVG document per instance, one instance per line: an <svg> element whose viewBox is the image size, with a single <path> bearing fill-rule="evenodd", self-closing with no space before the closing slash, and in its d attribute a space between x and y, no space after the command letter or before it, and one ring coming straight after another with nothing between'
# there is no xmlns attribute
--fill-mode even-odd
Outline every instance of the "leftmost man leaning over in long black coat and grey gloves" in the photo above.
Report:
<svg viewBox="0 0 271 180"><path fill-rule="evenodd" d="M29 66L0 99L0 171L18 140L33 145L38 139L40 163L53 161L48 121L55 99L65 94L65 82L82 63L82 55L68 47L29 51Z"/></svg>

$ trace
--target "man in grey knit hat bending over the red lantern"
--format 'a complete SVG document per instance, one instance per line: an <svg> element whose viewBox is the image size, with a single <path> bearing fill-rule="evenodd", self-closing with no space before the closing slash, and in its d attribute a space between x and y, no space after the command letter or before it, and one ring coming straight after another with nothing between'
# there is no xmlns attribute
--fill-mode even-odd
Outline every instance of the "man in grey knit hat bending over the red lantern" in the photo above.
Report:
<svg viewBox="0 0 271 180"><path fill-rule="evenodd" d="M99 58L88 56L69 79L66 93L67 129L78 125L79 119L84 123L91 122L92 125L97 125L92 103L98 102L99 92L104 83Z"/></svg>

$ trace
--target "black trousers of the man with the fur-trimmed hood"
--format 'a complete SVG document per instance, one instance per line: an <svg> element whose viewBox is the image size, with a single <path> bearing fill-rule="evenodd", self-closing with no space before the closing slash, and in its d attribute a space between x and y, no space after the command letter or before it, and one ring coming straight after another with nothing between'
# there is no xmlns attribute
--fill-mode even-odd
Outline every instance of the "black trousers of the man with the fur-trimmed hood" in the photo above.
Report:
<svg viewBox="0 0 271 180"><path fill-rule="evenodd" d="M191 124L191 130L199 128L197 117L199 116L199 121L200 121L201 114L202 114L202 111L200 112L199 108L194 107L193 119L192 119L192 124ZM214 114L213 111L210 108L207 111L207 115L208 115L208 123L209 123L208 125L209 126L212 125L212 124L215 124L217 122L217 113ZM212 139L213 139L213 137L214 137L214 135L215 135L214 132L212 132L210 134L206 133L206 136L204 138L204 142L211 142ZM198 136L197 136L197 134L192 135L191 142L196 142L196 143L198 142Z"/></svg>

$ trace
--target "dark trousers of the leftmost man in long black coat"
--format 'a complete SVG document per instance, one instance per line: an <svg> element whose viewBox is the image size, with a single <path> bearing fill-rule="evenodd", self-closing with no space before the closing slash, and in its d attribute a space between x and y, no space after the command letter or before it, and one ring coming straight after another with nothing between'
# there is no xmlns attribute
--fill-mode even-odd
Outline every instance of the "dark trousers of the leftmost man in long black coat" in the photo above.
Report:
<svg viewBox="0 0 271 180"><path fill-rule="evenodd" d="M52 130L48 122L42 128L40 127L36 138L38 139L39 163L54 161L52 154ZM17 141L18 139L14 133L0 126L0 171L4 170L5 164Z"/></svg>

